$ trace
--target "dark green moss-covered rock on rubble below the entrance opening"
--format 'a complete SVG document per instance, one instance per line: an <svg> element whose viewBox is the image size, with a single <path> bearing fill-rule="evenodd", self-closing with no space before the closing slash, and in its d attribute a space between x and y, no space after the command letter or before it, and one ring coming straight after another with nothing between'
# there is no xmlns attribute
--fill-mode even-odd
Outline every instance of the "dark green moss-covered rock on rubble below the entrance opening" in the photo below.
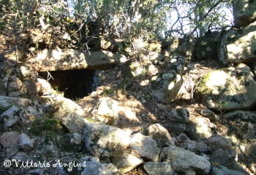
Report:
<svg viewBox="0 0 256 175"><path fill-rule="evenodd" d="M36 119L31 124L30 133L35 135L42 134L42 131L54 131L56 133L64 133L61 121L58 119Z"/></svg>

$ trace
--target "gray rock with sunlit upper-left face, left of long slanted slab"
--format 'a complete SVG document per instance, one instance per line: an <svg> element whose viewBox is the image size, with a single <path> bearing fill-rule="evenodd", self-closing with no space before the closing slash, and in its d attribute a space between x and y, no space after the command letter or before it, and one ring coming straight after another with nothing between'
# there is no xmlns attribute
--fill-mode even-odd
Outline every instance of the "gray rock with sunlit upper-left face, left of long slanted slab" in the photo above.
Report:
<svg viewBox="0 0 256 175"><path fill-rule="evenodd" d="M143 136L142 133L135 133L129 143L130 149L140 155L143 160L151 162L159 161L160 149L157 147L157 141L150 136Z"/></svg>

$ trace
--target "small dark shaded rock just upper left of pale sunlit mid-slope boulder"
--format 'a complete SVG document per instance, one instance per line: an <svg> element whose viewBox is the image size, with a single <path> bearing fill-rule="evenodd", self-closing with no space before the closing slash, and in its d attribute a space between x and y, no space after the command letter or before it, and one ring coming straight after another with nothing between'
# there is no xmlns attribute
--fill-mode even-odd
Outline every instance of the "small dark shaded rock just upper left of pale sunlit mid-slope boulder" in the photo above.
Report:
<svg viewBox="0 0 256 175"><path fill-rule="evenodd" d="M189 123L189 117L189 110L187 108L181 108L172 110L167 120L173 123Z"/></svg>

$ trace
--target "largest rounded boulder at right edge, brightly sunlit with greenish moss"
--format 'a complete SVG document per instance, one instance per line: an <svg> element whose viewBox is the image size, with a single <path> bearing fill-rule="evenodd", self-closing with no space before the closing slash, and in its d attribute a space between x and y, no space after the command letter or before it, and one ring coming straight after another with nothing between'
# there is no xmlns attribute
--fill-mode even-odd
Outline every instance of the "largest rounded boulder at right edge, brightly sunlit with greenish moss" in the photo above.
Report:
<svg viewBox="0 0 256 175"><path fill-rule="evenodd" d="M241 63L203 76L196 93L208 109L251 109L256 103L256 82L249 67Z"/></svg>

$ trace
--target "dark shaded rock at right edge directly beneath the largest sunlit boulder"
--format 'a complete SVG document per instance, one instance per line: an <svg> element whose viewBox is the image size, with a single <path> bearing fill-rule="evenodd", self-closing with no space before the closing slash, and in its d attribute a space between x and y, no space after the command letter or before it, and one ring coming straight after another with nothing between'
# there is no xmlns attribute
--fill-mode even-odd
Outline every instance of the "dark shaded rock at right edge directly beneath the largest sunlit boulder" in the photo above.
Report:
<svg viewBox="0 0 256 175"><path fill-rule="evenodd" d="M228 128L228 135L235 135L243 143L256 139L256 112L233 111L222 115L222 121Z"/></svg>

